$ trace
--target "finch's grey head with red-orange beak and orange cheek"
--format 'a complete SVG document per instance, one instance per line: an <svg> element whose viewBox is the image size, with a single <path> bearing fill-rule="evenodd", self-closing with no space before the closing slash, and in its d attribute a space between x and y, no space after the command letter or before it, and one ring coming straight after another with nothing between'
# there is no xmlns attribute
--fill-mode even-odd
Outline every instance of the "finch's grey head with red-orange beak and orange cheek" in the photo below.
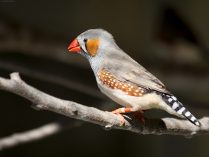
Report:
<svg viewBox="0 0 209 157"><path fill-rule="evenodd" d="M113 36L103 29L89 29L70 44L68 50L88 59L92 69L98 70L107 53L119 49Z"/></svg>

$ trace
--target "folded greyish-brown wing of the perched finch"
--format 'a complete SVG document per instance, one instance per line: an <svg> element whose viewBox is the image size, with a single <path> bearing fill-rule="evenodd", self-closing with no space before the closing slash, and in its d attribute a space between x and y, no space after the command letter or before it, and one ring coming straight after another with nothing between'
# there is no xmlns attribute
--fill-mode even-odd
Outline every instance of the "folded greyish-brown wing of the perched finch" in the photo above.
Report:
<svg viewBox="0 0 209 157"><path fill-rule="evenodd" d="M123 82L135 84L138 87L155 90L170 94L165 85L154 75L149 73L144 67L134 61L124 52L111 53L106 59L103 67Z"/></svg>

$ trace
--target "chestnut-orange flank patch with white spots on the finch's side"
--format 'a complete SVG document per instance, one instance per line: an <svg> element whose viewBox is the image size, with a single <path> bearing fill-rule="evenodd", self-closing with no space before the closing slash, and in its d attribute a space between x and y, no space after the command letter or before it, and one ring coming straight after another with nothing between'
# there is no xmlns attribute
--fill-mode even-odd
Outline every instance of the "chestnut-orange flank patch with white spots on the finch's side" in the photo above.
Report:
<svg viewBox="0 0 209 157"><path fill-rule="evenodd" d="M145 92L142 88L136 85L117 80L107 70L101 70L99 72L99 79L104 85L107 85L112 89L119 89L130 96L143 96Z"/></svg>

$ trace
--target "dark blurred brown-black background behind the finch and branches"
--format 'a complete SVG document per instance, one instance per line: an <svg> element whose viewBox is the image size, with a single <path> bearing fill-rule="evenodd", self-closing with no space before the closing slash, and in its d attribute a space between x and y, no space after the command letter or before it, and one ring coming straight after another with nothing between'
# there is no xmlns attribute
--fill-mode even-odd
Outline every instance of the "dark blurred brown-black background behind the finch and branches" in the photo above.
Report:
<svg viewBox="0 0 209 157"><path fill-rule="evenodd" d="M197 117L209 116L208 6L204 0L0 0L0 76L18 71L53 96L112 110L116 105L97 89L87 61L67 53L81 32L103 28ZM56 120L76 121L38 112L31 102L5 91L0 91L0 102L0 137ZM137 135L84 123L0 156L208 157L208 145L206 135Z"/></svg>

